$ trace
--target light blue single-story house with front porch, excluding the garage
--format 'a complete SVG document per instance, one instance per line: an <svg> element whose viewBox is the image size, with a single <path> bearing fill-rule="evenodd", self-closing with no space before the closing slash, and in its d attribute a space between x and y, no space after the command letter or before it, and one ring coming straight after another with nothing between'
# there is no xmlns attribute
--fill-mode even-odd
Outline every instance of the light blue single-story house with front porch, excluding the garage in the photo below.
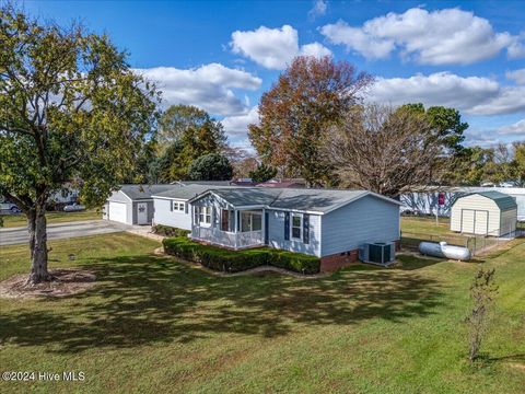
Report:
<svg viewBox="0 0 525 394"><path fill-rule="evenodd" d="M153 196L154 223L238 250L268 245L322 258L330 270L358 258L366 243L399 240L399 206L365 190L202 185Z"/></svg>

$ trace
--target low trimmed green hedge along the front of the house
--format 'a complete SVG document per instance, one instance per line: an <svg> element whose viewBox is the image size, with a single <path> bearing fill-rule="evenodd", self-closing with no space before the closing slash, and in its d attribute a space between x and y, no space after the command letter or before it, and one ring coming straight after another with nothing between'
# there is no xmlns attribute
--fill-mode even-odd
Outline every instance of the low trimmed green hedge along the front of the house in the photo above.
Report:
<svg viewBox="0 0 525 394"><path fill-rule="evenodd" d="M320 268L318 257L269 247L229 251L202 245L186 236L166 239L163 245L167 254L225 273L238 273L262 265L272 265L301 274L317 274Z"/></svg>

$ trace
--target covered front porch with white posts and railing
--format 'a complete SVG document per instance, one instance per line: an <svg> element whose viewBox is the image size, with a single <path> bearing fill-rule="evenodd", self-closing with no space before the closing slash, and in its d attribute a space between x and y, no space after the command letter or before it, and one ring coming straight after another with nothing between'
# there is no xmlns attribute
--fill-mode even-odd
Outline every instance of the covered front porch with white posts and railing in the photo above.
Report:
<svg viewBox="0 0 525 394"><path fill-rule="evenodd" d="M195 207L190 237L232 250L265 244L262 209L218 209Z"/></svg>

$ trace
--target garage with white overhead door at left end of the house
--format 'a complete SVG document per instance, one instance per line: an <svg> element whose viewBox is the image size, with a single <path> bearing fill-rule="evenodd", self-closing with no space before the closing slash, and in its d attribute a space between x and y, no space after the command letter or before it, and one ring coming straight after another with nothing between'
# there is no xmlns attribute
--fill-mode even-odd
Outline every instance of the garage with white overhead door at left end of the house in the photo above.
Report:
<svg viewBox="0 0 525 394"><path fill-rule="evenodd" d="M175 185L122 185L112 193L103 209L103 219L126 224L151 224L153 219L153 194Z"/></svg>

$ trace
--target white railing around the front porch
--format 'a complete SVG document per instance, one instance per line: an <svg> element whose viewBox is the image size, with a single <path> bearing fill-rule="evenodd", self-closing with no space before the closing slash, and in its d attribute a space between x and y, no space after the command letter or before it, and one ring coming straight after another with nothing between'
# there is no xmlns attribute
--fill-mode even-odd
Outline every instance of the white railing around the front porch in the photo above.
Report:
<svg viewBox="0 0 525 394"><path fill-rule="evenodd" d="M225 232L214 228L194 225L191 237L222 246L243 248L262 244L262 231Z"/></svg>

